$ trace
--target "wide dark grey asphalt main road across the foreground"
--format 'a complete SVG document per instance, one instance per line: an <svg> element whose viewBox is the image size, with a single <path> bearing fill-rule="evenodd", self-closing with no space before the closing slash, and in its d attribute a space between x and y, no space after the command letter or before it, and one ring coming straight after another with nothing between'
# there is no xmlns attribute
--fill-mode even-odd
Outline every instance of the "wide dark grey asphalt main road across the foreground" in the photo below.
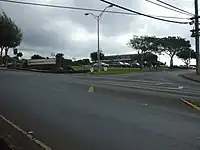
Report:
<svg viewBox="0 0 200 150"><path fill-rule="evenodd" d="M0 71L0 113L52 149L200 149L199 113L180 99L79 81Z"/></svg>

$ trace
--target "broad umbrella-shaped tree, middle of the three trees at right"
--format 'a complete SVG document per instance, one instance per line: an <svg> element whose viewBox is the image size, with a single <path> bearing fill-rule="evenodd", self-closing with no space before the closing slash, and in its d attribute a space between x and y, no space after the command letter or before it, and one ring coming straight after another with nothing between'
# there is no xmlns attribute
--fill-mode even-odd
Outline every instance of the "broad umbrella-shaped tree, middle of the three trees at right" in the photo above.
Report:
<svg viewBox="0 0 200 150"><path fill-rule="evenodd" d="M175 36L157 38L155 45L157 47L155 52L164 52L170 57L170 68L173 67L174 56L184 49L191 47L190 41L187 41L185 38Z"/></svg>

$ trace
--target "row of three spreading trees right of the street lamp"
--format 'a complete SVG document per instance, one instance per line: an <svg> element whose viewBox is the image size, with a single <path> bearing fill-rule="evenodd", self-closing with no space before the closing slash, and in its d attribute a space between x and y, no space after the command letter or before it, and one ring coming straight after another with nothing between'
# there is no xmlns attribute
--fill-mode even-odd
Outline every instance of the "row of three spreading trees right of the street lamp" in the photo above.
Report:
<svg viewBox="0 0 200 150"><path fill-rule="evenodd" d="M173 58L177 56L187 66L190 58L196 58L196 53L191 49L189 40L179 36L155 37L155 36L133 36L127 43L128 46L140 55L140 64L144 64L146 53L167 54L170 57L170 67L173 67Z"/></svg>

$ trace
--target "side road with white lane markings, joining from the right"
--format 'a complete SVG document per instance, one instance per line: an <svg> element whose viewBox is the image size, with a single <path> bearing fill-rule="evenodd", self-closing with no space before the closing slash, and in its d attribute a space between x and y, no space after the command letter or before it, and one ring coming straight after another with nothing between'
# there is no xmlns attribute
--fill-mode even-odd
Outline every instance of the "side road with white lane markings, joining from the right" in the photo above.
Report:
<svg viewBox="0 0 200 150"><path fill-rule="evenodd" d="M143 89L146 92L162 92L164 95L176 95L176 97L200 101L199 83L186 80L180 74L194 70L177 70L161 72L140 72L124 75L71 75L73 82L85 82L90 84L104 84L112 86ZM161 94L159 94L161 95Z"/></svg>

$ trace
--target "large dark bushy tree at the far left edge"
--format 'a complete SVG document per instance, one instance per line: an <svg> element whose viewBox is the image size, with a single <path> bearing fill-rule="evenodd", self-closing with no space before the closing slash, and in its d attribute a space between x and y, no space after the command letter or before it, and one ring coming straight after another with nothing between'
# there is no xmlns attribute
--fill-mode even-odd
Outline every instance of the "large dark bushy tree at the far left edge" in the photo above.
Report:
<svg viewBox="0 0 200 150"><path fill-rule="evenodd" d="M21 29L15 24L10 17L6 15L4 11L0 14L0 48L1 58L3 50L5 50L5 56L8 55L9 48L15 48L20 45L22 40ZM7 61L6 61L7 66Z"/></svg>

